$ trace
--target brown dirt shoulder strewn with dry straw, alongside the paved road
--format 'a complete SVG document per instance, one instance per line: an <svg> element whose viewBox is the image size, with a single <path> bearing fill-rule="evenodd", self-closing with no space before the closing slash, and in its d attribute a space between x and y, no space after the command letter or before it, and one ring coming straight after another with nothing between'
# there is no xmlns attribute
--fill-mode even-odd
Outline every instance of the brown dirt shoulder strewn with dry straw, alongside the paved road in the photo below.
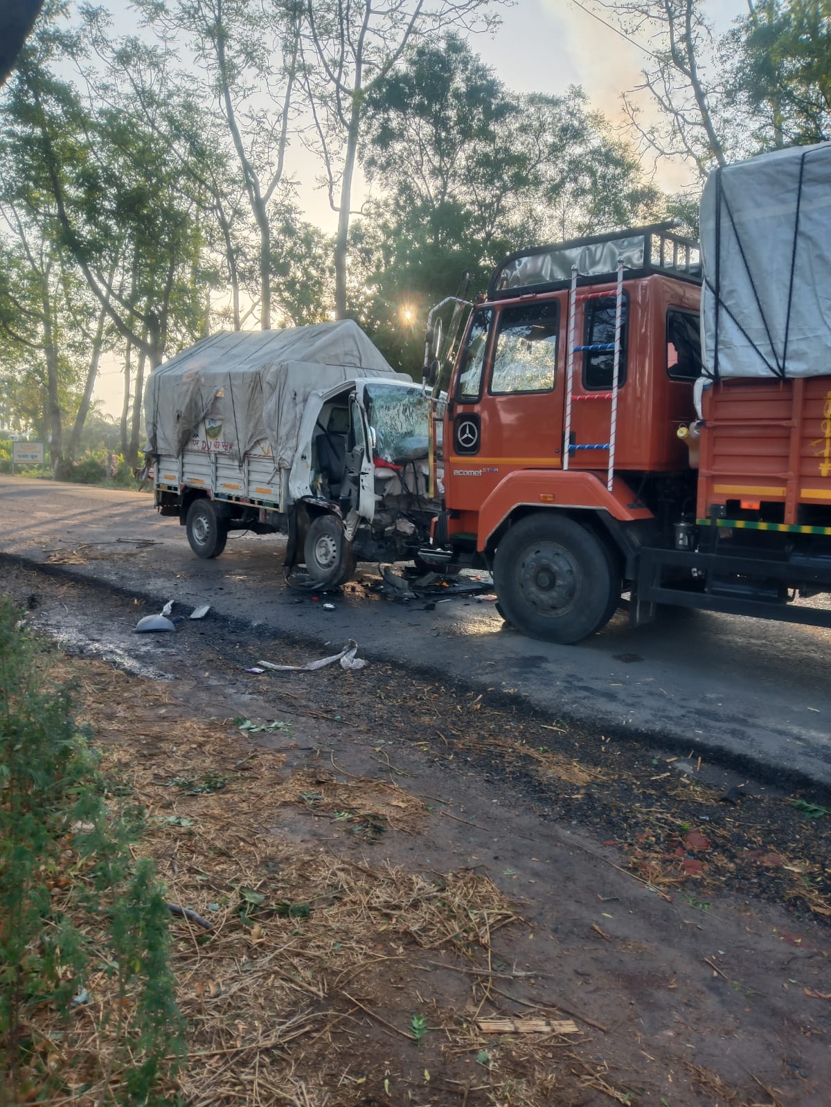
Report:
<svg viewBox="0 0 831 1107"><path fill-rule="evenodd" d="M211 925L174 923L188 1103L827 1103L827 797L722 801L743 782L510 694L248 674L309 653L4 588L71 649L141 849Z"/></svg>

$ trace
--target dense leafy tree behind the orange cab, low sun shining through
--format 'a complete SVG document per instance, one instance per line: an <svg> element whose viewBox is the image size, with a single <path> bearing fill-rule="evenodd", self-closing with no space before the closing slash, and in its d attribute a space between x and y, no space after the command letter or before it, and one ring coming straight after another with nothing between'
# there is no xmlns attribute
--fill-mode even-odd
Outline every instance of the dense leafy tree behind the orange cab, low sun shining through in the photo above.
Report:
<svg viewBox="0 0 831 1107"><path fill-rule="evenodd" d="M360 147L384 193L355 223L350 312L396 364L414 320L511 250L643 223L660 197L585 94L520 96L458 35L418 42L367 97Z"/></svg>

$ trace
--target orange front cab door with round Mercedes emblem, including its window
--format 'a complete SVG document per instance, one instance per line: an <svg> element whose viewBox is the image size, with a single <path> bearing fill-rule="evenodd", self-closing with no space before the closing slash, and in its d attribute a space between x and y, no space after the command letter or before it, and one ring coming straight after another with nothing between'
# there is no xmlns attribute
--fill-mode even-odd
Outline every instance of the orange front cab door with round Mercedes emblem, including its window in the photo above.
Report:
<svg viewBox="0 0 831 1107"><path fill-rule="evenodd" d="M448 505L478 510L513 469L561 468L560 299L475 312L453 399Z"/></svg>

